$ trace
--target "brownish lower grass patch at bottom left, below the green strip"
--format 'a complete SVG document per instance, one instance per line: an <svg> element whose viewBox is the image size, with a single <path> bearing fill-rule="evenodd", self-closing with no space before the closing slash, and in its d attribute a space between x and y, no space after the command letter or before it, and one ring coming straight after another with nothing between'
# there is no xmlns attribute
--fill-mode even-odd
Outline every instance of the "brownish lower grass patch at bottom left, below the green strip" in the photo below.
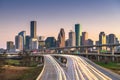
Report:
<svg viewBox="0 0 120 80"><path fill-rule="evenodd" d="M43 66L40 67L4 67L4 72L0 73L0 80L36 80Z"/></svg>

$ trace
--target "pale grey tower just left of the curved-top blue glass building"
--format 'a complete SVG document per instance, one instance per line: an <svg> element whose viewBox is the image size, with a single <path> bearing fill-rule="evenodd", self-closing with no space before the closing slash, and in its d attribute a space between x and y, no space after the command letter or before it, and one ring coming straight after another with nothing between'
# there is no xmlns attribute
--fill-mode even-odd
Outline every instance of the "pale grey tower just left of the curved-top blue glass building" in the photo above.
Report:
<svg viewBox="0 0 120 80"><path fill-rule="evenodd" d="M23 50L23 37L21 35L17 35L15 37L15 48L18 50Z"/></svg>

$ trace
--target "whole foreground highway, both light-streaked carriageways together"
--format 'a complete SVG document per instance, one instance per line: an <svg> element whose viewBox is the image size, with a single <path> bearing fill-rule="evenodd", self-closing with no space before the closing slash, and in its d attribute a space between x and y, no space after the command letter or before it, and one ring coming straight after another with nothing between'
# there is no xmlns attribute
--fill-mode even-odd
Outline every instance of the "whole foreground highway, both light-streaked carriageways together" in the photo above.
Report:
<svg viewBox="0 0 120 80"><path fill-rule="evenodd" d="M44 68L37 80L120 80L83 57L57 55L67 58L66 67L61 67L52 56L44 55Z"/></svg>

